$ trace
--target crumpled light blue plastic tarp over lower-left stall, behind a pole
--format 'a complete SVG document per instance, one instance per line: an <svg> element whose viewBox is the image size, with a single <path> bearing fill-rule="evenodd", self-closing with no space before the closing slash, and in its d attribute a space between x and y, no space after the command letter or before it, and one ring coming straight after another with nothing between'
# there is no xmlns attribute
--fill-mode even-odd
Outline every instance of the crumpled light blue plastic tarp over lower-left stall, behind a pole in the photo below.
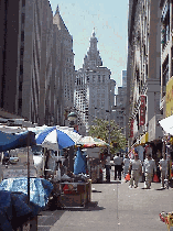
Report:
<svg viewBox="0 0 173 231"><path fill-rule="evenodd" d="M52 183L43 178L30 178L30 201L44 208L48 202L48 196L53 189ZM0 184L0 190L23 193L28 195L28 178L8 178Z"/></svg>

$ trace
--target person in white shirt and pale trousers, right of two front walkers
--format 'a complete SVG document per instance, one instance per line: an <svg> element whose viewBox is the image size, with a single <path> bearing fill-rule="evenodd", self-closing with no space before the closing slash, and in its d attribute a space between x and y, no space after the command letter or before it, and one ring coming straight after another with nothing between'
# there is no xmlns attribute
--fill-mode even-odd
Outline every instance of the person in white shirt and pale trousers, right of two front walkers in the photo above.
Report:
<svg viewBox="0 0 173 231"><path fill-rule="evenodd" d="M151 157L150 153L147 154L147 158L144 160L143 172L145 176L144 188L150 189L153 174L156 173L155 161Z"/></svg>

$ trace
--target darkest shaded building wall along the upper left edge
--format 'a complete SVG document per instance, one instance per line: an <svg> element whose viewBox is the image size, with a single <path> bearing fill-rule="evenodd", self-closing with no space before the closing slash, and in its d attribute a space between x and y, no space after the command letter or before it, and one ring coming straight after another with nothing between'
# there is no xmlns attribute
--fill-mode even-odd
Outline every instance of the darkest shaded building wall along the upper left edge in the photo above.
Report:
<svg viewBox="0 0 173 231"><path fill-rule="evenodd" d="M19 12L21 1L0 2L0 102L14 113L18 91ZM12 41L12 43L11 43Z"/></svg>

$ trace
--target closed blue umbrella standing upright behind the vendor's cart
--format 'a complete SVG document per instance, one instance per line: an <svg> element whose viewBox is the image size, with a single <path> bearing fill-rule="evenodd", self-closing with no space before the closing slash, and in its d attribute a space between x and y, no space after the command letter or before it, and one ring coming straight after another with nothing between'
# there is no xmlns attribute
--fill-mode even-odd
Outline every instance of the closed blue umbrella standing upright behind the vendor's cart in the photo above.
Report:
<svg viewBox="0 0 173 231"><path fill-rule="evenodd" d="M77 174L80 174L80 173L86 174L86 164L85 164L82 151L78 147L77 155L76 155L76 158L75 158L75 164L74 164L74 174L77 175Z"/></svg>

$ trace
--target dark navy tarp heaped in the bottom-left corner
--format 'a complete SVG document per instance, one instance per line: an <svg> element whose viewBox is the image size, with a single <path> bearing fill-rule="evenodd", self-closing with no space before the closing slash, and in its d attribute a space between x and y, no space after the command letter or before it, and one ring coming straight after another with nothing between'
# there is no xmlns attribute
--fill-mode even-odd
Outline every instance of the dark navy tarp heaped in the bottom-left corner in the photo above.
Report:
<svg viewBox="0 0 173 231"><path fill-rule="evenodd" d="M24 194L0 190L0 230L13 231L34 218L41 209L34 204L28 205Z"/></svg>

